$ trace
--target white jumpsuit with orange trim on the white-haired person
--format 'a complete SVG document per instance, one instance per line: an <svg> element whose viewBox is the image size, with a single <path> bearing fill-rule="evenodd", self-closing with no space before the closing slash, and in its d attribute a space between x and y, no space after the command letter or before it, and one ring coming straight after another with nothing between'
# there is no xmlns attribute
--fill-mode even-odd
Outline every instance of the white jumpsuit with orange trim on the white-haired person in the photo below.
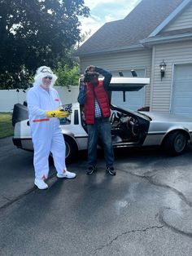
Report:
<svg viewBox="0 0 192 256"><path fill-rule="evenodd" d="M33 165L37 179L47 179L49 155L53 155L55 168L59 174L66 170L65 142L59 127L59 118L46 117L47 110L55 110L61 105L58 92L50 87L49 92L41 86L28 90L28 117L33 139Z"/></svg>

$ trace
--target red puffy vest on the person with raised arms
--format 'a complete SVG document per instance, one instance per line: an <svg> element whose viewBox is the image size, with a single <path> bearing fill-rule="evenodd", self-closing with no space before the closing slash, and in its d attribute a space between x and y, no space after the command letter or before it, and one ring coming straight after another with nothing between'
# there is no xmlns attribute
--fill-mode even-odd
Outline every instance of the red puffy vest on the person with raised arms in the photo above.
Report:
<svg viewBox="0 0 192 256"><path fill-rule="evenodd" d="M90 82L86 83L86 102L85 102L85 122L88 125L94 124L94 98L98 100L103 117L110 117L110 104L107 91L103 86L103 81L99 81L97 86L92 86ZM94 96L95 95L95 96Z"/></svg>

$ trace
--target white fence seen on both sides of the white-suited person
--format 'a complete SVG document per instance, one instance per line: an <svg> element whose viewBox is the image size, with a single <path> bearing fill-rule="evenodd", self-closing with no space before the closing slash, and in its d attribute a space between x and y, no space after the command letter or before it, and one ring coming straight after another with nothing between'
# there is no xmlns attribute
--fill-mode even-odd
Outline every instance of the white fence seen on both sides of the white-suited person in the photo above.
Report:
<svg viewBox="0 0 192 256"><path fill-rule="evenodd" d="M55 90L59 92L60 99L63 104L70 104L77 101L78 86L55 86ZM14 104L23 104L26 100L26 91L23 90L0 90L0 113L8 113L13 111Z"/></svg>

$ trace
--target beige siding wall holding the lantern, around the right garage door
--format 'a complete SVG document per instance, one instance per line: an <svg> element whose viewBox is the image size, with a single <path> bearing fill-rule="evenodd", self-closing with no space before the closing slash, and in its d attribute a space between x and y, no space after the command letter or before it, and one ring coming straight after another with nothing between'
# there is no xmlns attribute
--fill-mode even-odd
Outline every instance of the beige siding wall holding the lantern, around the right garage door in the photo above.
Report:
<svg viewBox="0 0 192 256"><path fill-rule="evenodd" d="M154 55L155 55L155 63L154 63L154 72L152 73L153 77L153 88L151 90L151 110L152 111L164 111L164 112L172 112L175 111L172 109L172 95L173 93L173 79L174 79L174 71L178 64L183 65L185 68L185 64L192 64L192 42L175 42L175 43L166 43L159 44L154 47ZM167 64L165 76L161 80L159 76L159 63L164 60ZM190 66L189 66L190 67ZM192 73L191 69L187 68L187 71ZM177 76L179 74L177 73ZM180 73L182 76L182 73ZM177 77L178 78L178 77ZM180 83L180 87L182 90L185 90L182 85L182 80ZM192 92L192 84L191 84L191 92ZM173 93L173 94L172 94ZM185 101L185 99L182 99ZM192 98L191 98L192 102ZM185 111L184 111L185 113ZM190 114L190 113L189 113ZM191 112L192 115L192 112Z"/></svg>

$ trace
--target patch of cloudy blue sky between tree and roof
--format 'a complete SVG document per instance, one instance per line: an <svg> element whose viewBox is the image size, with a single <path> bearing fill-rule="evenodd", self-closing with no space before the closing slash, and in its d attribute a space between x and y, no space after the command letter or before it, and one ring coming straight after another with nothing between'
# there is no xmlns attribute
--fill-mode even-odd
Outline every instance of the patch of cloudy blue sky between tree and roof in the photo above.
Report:
<svg viewBox="0 0 192 256"><path fill-rule="evenodd" d="M82 33L89 32L92 35L103 24L124 19L134 7L142 0L84 0L85 6L90 9L89 18L81 20Z"/></svg>

